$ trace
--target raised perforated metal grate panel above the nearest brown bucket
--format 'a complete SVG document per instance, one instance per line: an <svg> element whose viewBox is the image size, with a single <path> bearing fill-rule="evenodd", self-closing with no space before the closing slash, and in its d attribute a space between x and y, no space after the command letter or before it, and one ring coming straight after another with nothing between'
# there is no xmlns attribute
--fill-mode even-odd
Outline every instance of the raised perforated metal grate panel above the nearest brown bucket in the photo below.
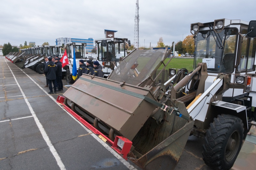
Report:
<svg viewBox="0 0 256 170"><path fill-rule="evenodd" d="M168 49L165 55L164 52L165 49L134 50L112 71L108 79L144 87L171 50Z"/></svg>

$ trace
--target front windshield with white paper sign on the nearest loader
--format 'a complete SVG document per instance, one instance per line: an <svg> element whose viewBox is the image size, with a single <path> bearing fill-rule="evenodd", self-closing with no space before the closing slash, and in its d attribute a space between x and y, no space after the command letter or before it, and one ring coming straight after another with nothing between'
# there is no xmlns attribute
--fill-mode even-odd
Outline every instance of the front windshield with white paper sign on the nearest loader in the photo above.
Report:
<svg viewBox="0 0 256 170"><path fill-rule="evenodd" d="M234 70L237 30L224 29L215 33L212 29L196 35L195 65L207 63L208 72L231 73Z"/></svg>

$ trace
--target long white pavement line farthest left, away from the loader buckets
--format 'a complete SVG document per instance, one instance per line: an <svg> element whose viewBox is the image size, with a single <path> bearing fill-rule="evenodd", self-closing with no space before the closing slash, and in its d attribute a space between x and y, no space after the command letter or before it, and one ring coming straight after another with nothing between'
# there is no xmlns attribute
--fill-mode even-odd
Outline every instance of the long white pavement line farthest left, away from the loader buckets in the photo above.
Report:
<svg viewBox="0 0 256 170"><path fill-rule="evenodd" d="M6 60L5 60L5 63L6 63L6 65L9 67L9 65L8 65L7 62L6 62ZM22 93L22 95L23 95L23 97L24 97L24 100L26 101L26 103L27 103L27 105L28 105L28 108L29 108L29 110L30 110L30 113L31 113L32 116L34 117L34 120L35 120L35 122L36 122L36 125L37 125L38 129L40 130L40 132L41 132L41 134L42 134L42 136L43 136L43 138L44 138L44 141L46 142L46 144L48 145L50 151L52 152L52 155L53 155L54 158L56 159L58 166L60 167L61 170L66 170L66 168L65 168L65 166L64 166L64 164L63 164L63 162L62 162L61 159L60 159L60 156L59 156L58 152L56 151L56 149L55 149L54 146L52 145L52 142L51 142L50 138L48 137L48 135L46 134L46 132L45 132L45 130L44 130L44 128L43 128L43 125L39 122L39 119L37 118L37 116L36 116L36 114L35 114L33 108L31 107L30 103L28 102L28 99L26 98L25 93L24 93L23 90L21 89L20 84L18 83L17 79L15 78L15 76L14 76L14 74L13 74L13 72L12 72L12 70L11 70L10 67L9 67L9 69L10 69L10 71L11 71L11 73L12 73L12 76L13 76L13 78L15 79L17 85L18 85L19 88L20 88L20 92Z"/></svg>

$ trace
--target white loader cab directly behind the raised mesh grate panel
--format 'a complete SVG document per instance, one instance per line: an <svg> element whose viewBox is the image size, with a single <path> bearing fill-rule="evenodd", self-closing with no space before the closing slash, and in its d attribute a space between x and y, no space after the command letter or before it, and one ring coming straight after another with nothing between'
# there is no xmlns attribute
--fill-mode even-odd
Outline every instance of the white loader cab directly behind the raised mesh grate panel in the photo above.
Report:
<svg viewBox="0 0 256 170"><path fill-rule="evenodd" d="M95 40L97 47L97 59L102 66L108 67L112 62L119 62L121 57L127 55L127 45L131 46L127 38L104 38Z"/></svg>

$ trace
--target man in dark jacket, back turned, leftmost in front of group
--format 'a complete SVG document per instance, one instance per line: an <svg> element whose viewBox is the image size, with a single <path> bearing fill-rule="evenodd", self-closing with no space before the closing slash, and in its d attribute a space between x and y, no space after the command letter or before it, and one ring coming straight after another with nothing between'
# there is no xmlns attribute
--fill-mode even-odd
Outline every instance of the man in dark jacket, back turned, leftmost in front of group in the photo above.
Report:
<svg viewBox="0 0 256 170"><path fill-rule="evenodd" d="M56 92L56 64L52 62L52 57L48 58L49 62L46 64L45 68L44 68L44 72L47 73L47 78L48 78L48 83L49 83L49 89L50 92L48 92L49 94L53 94L52 92L52 84L53 84L53 88L54 88L54 93Z"/></svg>

